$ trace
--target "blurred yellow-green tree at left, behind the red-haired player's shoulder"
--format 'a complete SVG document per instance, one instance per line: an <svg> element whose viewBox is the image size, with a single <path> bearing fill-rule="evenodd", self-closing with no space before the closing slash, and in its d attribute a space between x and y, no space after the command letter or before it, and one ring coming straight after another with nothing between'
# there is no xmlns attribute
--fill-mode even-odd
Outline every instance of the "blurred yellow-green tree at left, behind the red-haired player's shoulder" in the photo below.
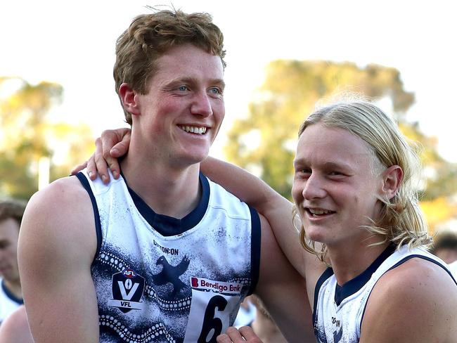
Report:
<svg viewBox="0 0 457 343"><path fill-rule="evenodd" d="M51 159L52 181L94 150L89 127L49 119L62 94L59 84L0 77L0 195L27 200L38 189L40 158Z"/></svg>

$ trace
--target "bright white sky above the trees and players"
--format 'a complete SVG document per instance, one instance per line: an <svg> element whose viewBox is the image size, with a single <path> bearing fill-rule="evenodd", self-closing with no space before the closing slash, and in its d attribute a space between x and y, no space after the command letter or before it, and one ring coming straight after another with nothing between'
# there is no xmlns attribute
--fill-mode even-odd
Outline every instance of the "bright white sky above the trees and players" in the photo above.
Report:
<svg viewBox="0 0 457 343"><path fill-rule="evenodd" d="M205 11L224 32L226 119L212 155L219 155L231 121L247 112L264 66L278 58L349 60L396 67L416 105L408 118L439 138L439 151L457 162L457 52L454 1L175 0L175 8ZM95 134L122 127L114 91L115 39L145 5L169 0L4 1L0 5L0 76L65 89L56 110L87 122Z"/></svg>

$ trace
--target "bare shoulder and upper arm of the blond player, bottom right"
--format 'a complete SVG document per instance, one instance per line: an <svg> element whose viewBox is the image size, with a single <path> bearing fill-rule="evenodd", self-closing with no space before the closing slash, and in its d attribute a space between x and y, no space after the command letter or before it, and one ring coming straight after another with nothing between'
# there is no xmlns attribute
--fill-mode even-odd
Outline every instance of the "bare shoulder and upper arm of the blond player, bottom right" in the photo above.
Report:
<svg viewBox="0 0 457 343"><path fill-rule="evenodd" d="M401 323L401 324L400 324ZM413 258L373 288L360 342L454 342L457 285L444 268Z"/></svg>

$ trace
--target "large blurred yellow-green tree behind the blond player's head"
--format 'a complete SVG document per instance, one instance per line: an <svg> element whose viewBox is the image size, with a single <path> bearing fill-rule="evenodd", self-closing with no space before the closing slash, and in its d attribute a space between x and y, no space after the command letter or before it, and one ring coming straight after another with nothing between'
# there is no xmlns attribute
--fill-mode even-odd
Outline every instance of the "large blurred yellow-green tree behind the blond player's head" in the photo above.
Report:
<svg viewBox="0 0 457 343"><path fill-rule="evenodd" d="M404 90L397 69L381 65L359 67L349 62L307 60L269 63L264 84L250 103L247 117L237 119L228 132L224 148L227 159L258 174L290 199L292 160L300 124L322 98L345 91L379 101L388 99L401 129L424 145L423 160L437 171L427 176L425 199L456 193L456 167L449 169L451 164L437 154L436 142L421 134L417 124L406 121L414 94ZM453 186L449 187L451 181Z"/></svg>

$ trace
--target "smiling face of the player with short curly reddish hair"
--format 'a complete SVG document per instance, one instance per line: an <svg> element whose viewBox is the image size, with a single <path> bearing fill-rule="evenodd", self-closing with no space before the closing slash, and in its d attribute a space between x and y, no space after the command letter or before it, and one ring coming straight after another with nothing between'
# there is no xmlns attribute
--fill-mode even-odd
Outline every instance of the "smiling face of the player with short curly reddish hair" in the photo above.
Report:
<svg viewBox="0 0 457 343"><path fill-rule="evenodd" d="M144 152L156 159L201 162L225 114L221 58L182 44L170 48L156 65L147 93L134 92L133 107L127 108L133 115L132 140L140 138Z"/></svg>

